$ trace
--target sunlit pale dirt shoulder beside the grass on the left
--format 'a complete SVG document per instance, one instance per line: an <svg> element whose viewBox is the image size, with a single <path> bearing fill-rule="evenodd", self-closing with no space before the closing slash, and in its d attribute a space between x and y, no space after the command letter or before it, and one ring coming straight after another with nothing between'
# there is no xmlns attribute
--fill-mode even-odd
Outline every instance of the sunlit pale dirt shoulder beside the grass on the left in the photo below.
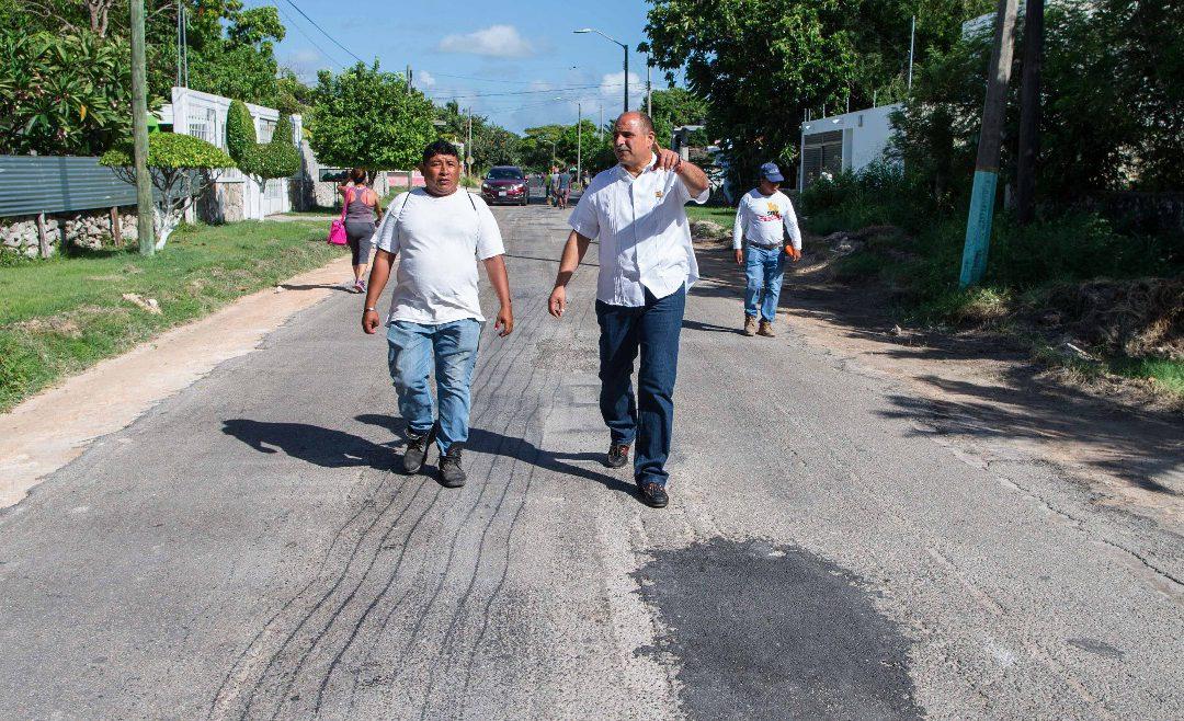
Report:
<svg viewBox="0 0 1184 721"><path fill-rule="evenodd" d="M102 361L0 416L0 508L165 398L250 353L297 311L342 292L343 257Z"/></svg>

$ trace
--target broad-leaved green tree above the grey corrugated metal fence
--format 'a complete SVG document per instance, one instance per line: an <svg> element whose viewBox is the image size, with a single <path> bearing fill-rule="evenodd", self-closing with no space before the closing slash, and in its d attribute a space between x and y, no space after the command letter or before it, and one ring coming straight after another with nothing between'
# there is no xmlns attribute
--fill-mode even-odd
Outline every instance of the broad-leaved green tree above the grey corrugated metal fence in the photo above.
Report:
<svg viewBox="0 0 1184 721"><path fill-rule="evenodd" d="M130 49L90 31L0 30L0 107L2 153L98 155L131 131Z"/></svg>

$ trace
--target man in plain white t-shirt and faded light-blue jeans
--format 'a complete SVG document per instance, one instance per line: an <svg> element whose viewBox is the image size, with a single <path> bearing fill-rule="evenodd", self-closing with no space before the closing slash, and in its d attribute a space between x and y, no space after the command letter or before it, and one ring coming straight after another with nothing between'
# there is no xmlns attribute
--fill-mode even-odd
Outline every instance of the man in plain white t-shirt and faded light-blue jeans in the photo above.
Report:
<svg viewBox="0 0 1184 721"><path fill-rule="evenodd" d="M399 268L387 315L387 365L407 421L403 470L417 474L435 440L440 452L440 483L464 485L462 444L469 439L469 388L477 362L484 317L477 297L477 258L501 301L494 329L514 330L502 234L484 200L458 189L461 157L456 146L437 141L424 149L424 188L403 193L387 208L375 232L378 253L371 269L362 330L378 331L378 298L395 256ZM436 371L439 413L432 411L429 376Z"/></svg>

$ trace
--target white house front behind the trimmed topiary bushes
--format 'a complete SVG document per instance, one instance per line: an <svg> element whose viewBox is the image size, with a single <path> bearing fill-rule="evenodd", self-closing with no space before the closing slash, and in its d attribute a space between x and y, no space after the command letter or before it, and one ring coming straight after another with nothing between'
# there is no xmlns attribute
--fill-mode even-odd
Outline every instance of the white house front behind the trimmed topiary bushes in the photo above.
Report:
<svg viewBox="0 0 1184 721"><path fill-rule="evenodd" d="M161 123L172 125L173 133L184 133L208 141L226 149L226 112L230 110L230 98L189 88L173 88L173 102L161 108L157 114ZM255 134L258 142L271 140L279 111L246 103L246 109L255 121ZM301 116L292 116L292 142L297 148L303 143ZM304 163L307 165L307 162ZM218 178L213 197L204 204L202 214L208 219L220 221L262 219L272 213L285 213L294 210L294 198L310 179L304 168L292 178L277 178L266 181L263 188L244 175L238 168L226 168Z"/></svg>

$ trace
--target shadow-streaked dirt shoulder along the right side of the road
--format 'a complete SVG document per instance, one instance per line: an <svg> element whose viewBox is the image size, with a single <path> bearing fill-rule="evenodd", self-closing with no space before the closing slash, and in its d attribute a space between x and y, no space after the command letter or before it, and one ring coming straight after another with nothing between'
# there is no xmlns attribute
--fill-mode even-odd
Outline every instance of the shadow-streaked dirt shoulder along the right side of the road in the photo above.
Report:
<svg viewBox="0 0 1184 721"><path fill-rule="evenodd" d="M709 283L742 294L731 247L696 240ZM901 384L889 400L969 457L1022 452L1088 484L1094 503L1184 529L1184 417L1130 387L1067 382L1005 336L902 329L875 285L831 279L824 255L790 271L780 308L806 343Z"/></svg>

